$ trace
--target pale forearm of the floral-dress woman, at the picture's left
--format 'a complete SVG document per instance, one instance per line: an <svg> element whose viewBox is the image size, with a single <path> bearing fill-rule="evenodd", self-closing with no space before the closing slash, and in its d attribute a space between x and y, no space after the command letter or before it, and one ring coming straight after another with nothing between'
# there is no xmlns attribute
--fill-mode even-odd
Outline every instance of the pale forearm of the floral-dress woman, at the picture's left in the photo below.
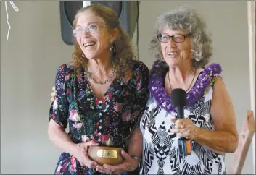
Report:
<svg viewBox="0 0 256 175"><path fill-rule="evenodd" d="M57 124L50 121L48 135L51 142L59 148L62 152L70 153L70 155L75 155L77 152L77 147L75 143L70 139L70 136Z"/></svg>

